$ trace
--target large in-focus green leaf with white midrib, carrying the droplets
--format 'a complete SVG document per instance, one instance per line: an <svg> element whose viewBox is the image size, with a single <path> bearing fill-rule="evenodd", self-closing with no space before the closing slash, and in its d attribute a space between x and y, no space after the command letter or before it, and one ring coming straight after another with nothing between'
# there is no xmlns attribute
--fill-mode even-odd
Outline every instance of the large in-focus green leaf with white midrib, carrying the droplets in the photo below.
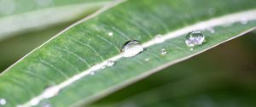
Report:
<svg viewBox="0 0 256 107"><path fill-rule="evenodd" d="M38 101L38 106L45 102L55 107L89 104L252 31L255 14L255 0L117 1L61 31L5 70L0 77L0 98L6 99L6 106L31 106ZM203 30L210 27L214 31ZM195 30L201 30L207 42L190 51L184 38ZM159 34L165 42L155 41ZM144 51L124 58L120 49L130 40L141 42ZM161 54L163 48L166 54ZM108 60L115 64L101 69ZM45 90L49 86L53 87Z"/></svg>

